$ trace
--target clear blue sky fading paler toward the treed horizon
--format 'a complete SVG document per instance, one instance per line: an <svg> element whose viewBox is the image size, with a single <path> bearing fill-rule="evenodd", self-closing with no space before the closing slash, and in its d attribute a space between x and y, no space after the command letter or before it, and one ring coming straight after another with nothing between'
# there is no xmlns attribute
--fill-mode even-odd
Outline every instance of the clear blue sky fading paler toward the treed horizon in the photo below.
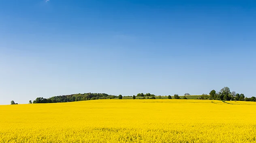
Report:
<svg viewBox="0 0 256 143"><path fill-rule="evenodd" d="M256 96L255 0L0 0L0 104L74 93Z"/></svg>

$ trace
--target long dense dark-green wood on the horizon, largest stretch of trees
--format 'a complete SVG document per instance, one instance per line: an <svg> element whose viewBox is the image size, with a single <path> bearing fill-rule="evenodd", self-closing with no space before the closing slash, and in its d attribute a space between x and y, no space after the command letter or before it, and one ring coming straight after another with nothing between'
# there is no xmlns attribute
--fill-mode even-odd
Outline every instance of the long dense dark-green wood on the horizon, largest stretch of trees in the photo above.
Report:
<svg viewBox="0 0 256 143"><path fill-rule="evenodd" d="M59 102L75 102L95 99L114 99L117 96L108 95L106 93L78 93L71 95L53 96L50 98L37 97L33 103L59 103Z"/></svg>

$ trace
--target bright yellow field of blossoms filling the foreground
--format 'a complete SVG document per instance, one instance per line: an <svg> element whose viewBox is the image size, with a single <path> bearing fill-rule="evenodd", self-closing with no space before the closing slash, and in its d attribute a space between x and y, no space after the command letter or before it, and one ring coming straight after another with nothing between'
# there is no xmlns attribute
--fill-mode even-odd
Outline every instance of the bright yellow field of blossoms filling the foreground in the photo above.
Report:
<svg viewBox="0 0 256 143"><path fill-rule="evenodd" d="M256 143L256 102L101 99L0 106L0 143Z"/></svg>

